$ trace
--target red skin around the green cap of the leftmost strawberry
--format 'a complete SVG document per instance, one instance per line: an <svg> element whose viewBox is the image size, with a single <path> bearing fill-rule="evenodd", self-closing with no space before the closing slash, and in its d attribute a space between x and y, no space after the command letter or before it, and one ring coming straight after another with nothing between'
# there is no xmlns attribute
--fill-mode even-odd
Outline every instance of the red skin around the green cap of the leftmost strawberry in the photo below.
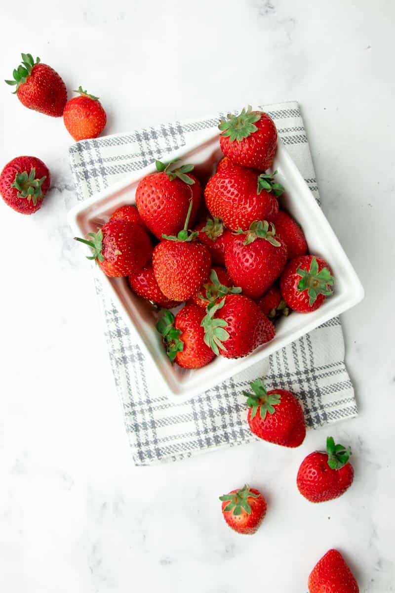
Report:
<svg viewBox="0 0 395 593"><path fill-rule="evenodd" d="M43 202L42 199L37 200L36 205L33 200L28 200L25 197L18 197L18 190L15 187L11 187L11 184L15 181L15 176L20 173L30 173L32 169L36 169L36 178L46 177L42 186L41 192L45 196L49 190L51 183L51 176L47 166L36 157L16 157L12 161L9 161L5 165L4 169L0 173L0 194L4 199L4 202L10 206L13 210L20 212L21 214L33 214L41 208Z"/></svg>

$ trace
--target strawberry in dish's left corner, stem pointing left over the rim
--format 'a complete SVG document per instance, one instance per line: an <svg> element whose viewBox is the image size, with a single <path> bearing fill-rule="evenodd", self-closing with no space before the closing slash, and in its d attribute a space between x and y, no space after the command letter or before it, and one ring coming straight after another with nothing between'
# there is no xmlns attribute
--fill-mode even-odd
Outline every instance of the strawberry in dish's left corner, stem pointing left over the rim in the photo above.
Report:
<svg viewBox="0 0 395 593"><path fill-rule="evenodd" d="M152 255L147 233L137 224L108 221L98 232L88 232L89 240L75 237L92 250L88 259L96 260L107 276L133 276Z"/></svg>

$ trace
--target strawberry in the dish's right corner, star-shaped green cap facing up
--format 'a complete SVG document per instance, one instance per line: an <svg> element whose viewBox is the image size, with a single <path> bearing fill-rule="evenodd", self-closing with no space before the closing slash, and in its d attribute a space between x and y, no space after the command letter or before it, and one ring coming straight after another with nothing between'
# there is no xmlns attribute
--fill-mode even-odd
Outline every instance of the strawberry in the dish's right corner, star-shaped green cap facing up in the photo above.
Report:
<svg viewBox="0 0 395 593"><path fill-rule="evenodd" d="M300 313L315 311L332 295L334 278L325 260L300 256L291 260L282 272L280 290L288 307Z"/></svg>

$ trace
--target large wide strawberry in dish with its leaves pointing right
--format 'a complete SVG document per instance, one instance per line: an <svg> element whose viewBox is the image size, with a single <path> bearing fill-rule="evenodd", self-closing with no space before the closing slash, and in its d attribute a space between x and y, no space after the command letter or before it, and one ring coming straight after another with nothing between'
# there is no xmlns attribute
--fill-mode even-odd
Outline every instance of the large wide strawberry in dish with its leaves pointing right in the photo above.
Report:
<svg viewBox="0 0 395 593"><path fill-rule="evenodd" d="M231 231L246 231L255 220L272 221L278 212L276 196L284 190L273 180L275 173L258 176L237 165L220 168L204 190L211 216L220 218Z"/></svg>

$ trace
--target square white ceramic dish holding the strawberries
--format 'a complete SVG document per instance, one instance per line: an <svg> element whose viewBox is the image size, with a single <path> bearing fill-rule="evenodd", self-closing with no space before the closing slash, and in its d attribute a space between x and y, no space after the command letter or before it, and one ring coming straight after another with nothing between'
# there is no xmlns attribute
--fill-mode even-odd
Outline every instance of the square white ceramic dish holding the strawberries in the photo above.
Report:
<svg viewBox="0 0 395 593"><path fill-rule="evenodd" d="M194 173L199 178L208 178L221 158L217 127L207 130L207 134L202 136L199 144L185 146L169 154L166 156L166 161L176 157L181 163L194 164ZM172 366L155 329L158 312L130 291L126 278L108 278L102 273L103 285L110 292L120 313L123 314L132 339L134 336L152 366L152 372L155 372L158 379L158 386L162 387L168 397L175 398L177 401L201 393L256 362L263 362L276 350L348 310L364 297L364 289L355 270L281 142L279 142L273 166L278 171L278 181L285 187L285 193L280 197L280 206L301 224L310 253L323 257L332 267L335 275L335 292L313 313L293 312L289 317L280 319L276 324L277 333L274 339L249 356L234 360L219 356L209 365L191 371L182 369L178 365ZM88 232L96 231L108 221L111 213L119 206L134 203L134 195L140 179L155 170L155 163L152 163L138 173L134 173L129 179L76 205L68 215L73 232L83 237Z"/></svg>

